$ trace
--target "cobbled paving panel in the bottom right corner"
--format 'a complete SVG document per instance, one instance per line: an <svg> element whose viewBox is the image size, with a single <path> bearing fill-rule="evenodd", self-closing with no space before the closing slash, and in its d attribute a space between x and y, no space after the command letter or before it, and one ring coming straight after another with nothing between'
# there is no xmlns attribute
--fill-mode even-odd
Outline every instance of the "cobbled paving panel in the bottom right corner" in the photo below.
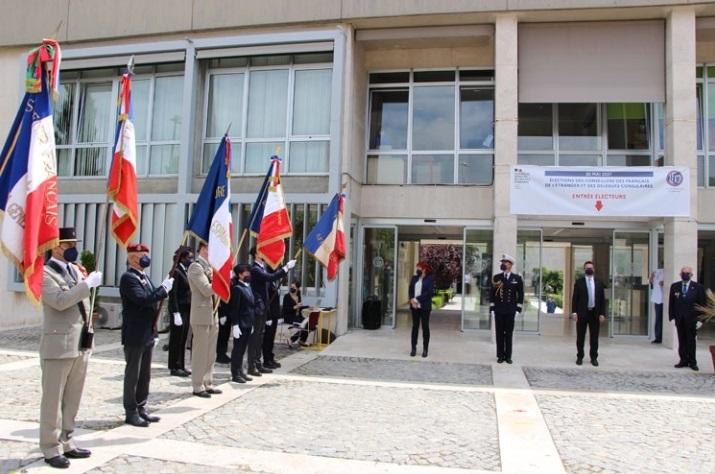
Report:
<svg viewBox="0 0 715 474"><path fill-rule="evenodd" d="M587 395L536 398L569 472L715 472L715 403Z"/></svg>

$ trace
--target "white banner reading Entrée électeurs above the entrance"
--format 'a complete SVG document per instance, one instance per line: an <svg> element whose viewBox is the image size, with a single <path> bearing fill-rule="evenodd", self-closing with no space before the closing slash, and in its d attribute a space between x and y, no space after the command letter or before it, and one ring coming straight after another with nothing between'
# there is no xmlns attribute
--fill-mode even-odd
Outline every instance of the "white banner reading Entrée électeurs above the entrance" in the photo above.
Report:
<svg viewBox="0 0 715 474"><path fill-rule="evenodd" d="M672 166L513 166L511 213L687 217L690 175Z"/></svg>

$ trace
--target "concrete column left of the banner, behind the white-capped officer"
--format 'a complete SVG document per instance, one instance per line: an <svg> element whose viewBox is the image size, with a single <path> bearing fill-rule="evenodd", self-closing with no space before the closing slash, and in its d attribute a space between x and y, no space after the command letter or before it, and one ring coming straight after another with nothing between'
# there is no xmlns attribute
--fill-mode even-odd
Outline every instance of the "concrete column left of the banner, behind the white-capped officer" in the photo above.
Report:
<svg viewBox="0 0 715 474"><path fill-rule="evenodd" d="M509 176L517 159L518 22L515 15L498 15L494 31L494 271L502 253L516 255L516 216L509 211ZM522 269L516 269L521 272Z"/></svg>

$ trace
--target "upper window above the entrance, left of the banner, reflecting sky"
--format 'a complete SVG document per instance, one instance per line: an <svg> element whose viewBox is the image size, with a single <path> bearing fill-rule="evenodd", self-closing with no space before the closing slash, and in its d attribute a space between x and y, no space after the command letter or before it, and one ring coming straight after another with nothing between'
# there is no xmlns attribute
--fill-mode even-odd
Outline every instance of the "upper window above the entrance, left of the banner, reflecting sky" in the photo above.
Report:
<svg viewBox="0 0 715 474"><path fill-rule="evenodd" d="M494 73L370 73L368 184L489 185Z"/></svg>

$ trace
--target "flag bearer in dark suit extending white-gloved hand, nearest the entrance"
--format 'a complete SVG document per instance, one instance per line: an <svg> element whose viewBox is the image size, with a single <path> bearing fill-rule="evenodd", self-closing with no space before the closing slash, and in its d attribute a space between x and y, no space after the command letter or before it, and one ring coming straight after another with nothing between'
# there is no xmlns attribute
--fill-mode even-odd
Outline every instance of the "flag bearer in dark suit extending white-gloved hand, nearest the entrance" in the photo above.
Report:
<svg viewBox="0 0 715 474"><path fill-rule="evenodd" d="M288 270L295 266L295 260L289 261L283 268L275 273L271 273L266 269L265 262L263 262L263 259L257 254L255 248L252 248L250 253L251 257L253 257L253 265L251 266L251 290L256 300L256 322L251 341L248 344L248 374L260 377L262 374L273 372L261 364L263 335L266 329L266 317L270 303L269 287L274 281L278 281L288 274Z"/></svg>

